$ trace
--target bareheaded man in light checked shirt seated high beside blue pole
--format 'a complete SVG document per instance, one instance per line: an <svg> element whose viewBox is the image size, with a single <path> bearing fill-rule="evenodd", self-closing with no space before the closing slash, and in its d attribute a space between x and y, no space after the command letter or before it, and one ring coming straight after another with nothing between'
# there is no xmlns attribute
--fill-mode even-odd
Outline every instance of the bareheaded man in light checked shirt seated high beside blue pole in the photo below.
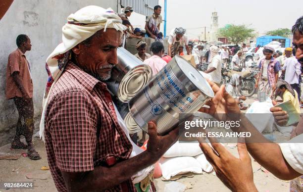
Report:
<svg viewBox="0 0 303 192"><path fill-rule="evenodd" d="M155 41L162 41L162 37L159 35L160 33L160 24L162 21L161 14L161 6L156 5L153 7L153 14L148 16L145 21L145 30L147 35L154 39Z"/></svg>

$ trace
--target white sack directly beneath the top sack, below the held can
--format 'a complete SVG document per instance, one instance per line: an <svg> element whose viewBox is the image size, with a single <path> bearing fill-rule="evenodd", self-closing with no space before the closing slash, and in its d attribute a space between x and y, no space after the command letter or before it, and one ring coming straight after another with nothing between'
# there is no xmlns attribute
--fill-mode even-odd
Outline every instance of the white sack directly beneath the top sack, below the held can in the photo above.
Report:
<svg viewBox="0 0 303 192"><path fill-rule="evenodd" d="M162 157L159 160L159 164L162 170L162 177L166 180L175 175L188 172L202 173L201 165L194 157Z"/></svg>

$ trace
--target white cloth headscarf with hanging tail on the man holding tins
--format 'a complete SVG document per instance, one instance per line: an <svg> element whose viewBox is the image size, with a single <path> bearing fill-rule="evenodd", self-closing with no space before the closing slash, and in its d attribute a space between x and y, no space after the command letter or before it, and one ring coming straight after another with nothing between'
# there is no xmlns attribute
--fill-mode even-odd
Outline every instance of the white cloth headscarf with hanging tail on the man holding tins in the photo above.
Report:
<svg viewBox="0 0 303 192"><path fill-rule="evenodd" d="M74 14L67 17L68 23L62 27L62 43L60 43L48 56L46 69L49 75L48 83L43 98L43 112L40 122L40 138L44 137L44 121L47 111L49 93L54 84L64 71L65 66L62 65L62 59L68 59L66 55L71 48L93 36L97 31L106 28L113 28L117 31L126 29L122 25L122 20L111 8L104 9L99 6L86 6L78 10ZM59 59L58 59L59 58Z"/></svg>

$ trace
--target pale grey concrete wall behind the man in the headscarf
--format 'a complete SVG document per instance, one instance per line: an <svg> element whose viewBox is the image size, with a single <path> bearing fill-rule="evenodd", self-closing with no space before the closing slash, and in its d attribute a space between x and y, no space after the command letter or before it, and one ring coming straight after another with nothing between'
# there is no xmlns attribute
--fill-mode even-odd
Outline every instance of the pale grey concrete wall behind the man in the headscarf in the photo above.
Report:
<svg viewBox="0 0 303 192"><path fill-rule="evenodd" d="M117 2L120 0L14 0L0 20L0 132L13 126L18 118L13 100L5 98L7 58L17 48L16 37L26 34L32 42L32 50L25 55L31 63L35 115L41 115L47 82L45 61L61 42L61 28L67 16L87 5L117 11L121 9Z"/></svg>

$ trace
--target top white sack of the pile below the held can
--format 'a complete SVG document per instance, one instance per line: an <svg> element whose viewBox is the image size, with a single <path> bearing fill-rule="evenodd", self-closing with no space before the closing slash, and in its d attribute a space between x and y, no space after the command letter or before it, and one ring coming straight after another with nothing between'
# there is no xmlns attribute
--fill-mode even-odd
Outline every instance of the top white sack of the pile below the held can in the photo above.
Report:
<svg viewBox="0 0 303 192"><path fill-rule="evenodd" d="M163 157L180 157L191 156L194 157L202 153L199 143L179 143L173 144L163 155Z"/></svg>

